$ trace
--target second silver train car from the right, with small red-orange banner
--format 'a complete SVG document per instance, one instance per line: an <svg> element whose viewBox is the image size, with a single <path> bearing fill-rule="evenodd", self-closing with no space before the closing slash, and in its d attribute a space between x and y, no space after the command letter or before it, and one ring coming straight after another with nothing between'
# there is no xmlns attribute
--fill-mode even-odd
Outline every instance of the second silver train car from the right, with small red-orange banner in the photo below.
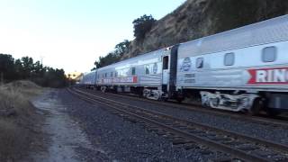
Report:
<svg viewBox="0 0 288 162"><path fill-rule="evenodd" d="M169 66L168 52L166 49L159 49L98 68L97 87L102 91L132 92L159 99L163 94L162 85L168 82L167 72L162 71L162 59L166 61L164 68Z"/></svg>

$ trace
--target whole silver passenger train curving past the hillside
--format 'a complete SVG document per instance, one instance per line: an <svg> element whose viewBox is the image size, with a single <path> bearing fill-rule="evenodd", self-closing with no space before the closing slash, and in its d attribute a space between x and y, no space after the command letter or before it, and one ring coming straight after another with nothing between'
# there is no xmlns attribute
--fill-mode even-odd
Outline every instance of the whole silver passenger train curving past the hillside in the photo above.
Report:
<svg viewBox="0 0 288 162"><path fill-rule="evenodd" d="M288 110L288 14L157 49L86 74L88 88L211 108Z"/></svg>

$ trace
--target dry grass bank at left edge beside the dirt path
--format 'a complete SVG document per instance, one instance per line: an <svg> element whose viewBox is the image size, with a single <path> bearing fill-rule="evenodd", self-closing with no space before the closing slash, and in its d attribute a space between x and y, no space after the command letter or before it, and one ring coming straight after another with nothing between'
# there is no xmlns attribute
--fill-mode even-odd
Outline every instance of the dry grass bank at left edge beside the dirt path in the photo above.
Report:
<svg viewBox="0 0 288 162"><path fill-rule="evenodd" d="M29 81L0 86L0 161L21 161L28 155L38 118L29 101L42 91Z"/></svg>

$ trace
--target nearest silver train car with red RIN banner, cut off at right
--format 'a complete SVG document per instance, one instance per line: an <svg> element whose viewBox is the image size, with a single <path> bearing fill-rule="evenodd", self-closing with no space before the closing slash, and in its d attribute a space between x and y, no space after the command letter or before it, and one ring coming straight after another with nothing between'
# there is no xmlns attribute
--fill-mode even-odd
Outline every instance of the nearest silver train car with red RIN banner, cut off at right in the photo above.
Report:
<svg viewBox="0 0 288 162"><path fill-rule="evenodd" d="M288 110L288 15L185 42L176 90L229 111Z"/></svg>

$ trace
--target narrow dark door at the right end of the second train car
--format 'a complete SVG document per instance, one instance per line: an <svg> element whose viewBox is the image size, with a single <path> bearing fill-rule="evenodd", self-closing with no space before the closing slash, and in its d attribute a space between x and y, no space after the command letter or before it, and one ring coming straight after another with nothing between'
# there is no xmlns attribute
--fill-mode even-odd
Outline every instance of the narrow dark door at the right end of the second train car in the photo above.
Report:
<svg viewBox="0 0 288 162"><path fill-rule="evenodd" d="M170 78L170 66L169 66L170 56L166 55L162 57L162 91L168 91L169 78Z"/></svg>

